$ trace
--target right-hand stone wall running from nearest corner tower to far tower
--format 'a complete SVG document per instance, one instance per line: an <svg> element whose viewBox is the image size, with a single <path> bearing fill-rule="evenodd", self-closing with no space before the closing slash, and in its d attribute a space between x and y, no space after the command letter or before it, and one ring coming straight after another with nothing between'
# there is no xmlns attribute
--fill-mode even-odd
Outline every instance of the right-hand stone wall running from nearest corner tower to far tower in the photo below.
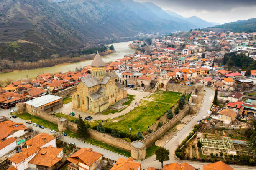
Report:
<svg viewBox="0 0 256 170"><path fill-rule="evenodd" d="M186 116L188 113L189 113L189 106L187 106L184 110L182 110L178 115L174 116L161 128L156 130L156 132L152 133L152 135L143 139L142 142L145 143L146 148L151 146L156 140L158 140L162 135L164 135L164 133L166 133L170 128L172 128L177 122L182 120L182 118Z"/></svg>

